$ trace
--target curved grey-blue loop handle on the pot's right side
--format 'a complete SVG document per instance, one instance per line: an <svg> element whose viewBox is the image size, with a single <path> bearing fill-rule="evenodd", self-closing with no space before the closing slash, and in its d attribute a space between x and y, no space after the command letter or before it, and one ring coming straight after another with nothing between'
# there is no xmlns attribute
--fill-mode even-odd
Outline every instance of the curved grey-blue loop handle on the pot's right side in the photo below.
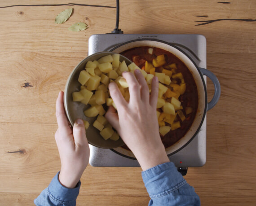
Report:
<svg viewBox="0 0 256 206"><path fill-rule="evenodd" d="M209 103L207 103L207 111L208 111L208 110L211 110L212 107L214 107L220 99L221 84L218 78L211 71L203 68L199 68L199 70L202 73L202 75L206 75L207 77L209 77L212 80L212 83L214 84L214 90L215 90L214 95L212 97L212 100Z"/></svg>

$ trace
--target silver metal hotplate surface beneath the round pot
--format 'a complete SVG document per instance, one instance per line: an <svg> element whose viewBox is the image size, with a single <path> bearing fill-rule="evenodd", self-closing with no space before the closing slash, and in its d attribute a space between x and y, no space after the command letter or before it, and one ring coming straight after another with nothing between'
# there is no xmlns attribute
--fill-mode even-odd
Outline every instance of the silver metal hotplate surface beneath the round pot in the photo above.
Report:
<svg viewBox="0 0 256 206"><path fill-rule="evenodd" d="M159 39L172 43L206 68L206 39L203 35L96 34L89 38L88 55L109 51L118 44L134 39ZM206 77L204 76L206 83ZM111 149L90 147L89 163L93 167L139 167L137 160L121 156ZM206 162L206 116L194 139L183 149L169 156L177 168L202 167Z"/></svg>

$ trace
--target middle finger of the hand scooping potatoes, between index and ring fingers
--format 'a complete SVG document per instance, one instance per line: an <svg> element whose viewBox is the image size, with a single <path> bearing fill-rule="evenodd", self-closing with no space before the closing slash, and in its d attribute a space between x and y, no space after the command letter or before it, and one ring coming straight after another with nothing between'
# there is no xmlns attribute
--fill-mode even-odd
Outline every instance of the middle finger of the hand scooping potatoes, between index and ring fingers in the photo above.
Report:
<svg viewBox="0 0 256 206"><path fill-rule="evenodd" d="M141 100L140 84L136 77L131 72L123 72L123 77L126 79L129 86L130 102L138 102Z"/></svg>

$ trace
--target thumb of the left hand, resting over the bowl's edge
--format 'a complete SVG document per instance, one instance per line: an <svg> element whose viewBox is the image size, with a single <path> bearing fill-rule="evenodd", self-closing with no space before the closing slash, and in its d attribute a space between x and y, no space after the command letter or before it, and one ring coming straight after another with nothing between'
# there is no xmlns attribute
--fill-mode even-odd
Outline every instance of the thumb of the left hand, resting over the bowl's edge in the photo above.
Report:
<svg viewBox="0 0 256 206"><path fill-rule="evenodd" d="M85 135L84 122L82 119L75 120L75 124L73 126L73 136L75 140L75 146L77 145L83 146L88 144L88 141Z"/></svg>

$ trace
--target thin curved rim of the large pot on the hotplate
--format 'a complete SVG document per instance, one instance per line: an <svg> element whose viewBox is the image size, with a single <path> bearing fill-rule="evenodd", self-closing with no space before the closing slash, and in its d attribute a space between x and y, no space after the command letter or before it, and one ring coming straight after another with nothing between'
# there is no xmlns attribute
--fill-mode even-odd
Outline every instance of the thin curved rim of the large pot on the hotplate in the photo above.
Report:
<svg viewBox="0 0 256 206"><path fill-rule="evenodd" d="M200 78L202 80L202 83L203 83L203 90L204 90L204 94L205 94L205 102L204 102L204 110L203 110L203 115L202 115L202 120L199 124L199 127L196 129L194 135L190 138L190 140L188 140L184 145L182 145L179 149L175 150L174 152L172 153L169 153L167 154L167 156L171 156L177 152L179 152L181 149L185 148L185 146L187 146L193 139L194 137L197 135L197 133L199 132L200 128L202 127L202 124L203 124L203 121L204 121L204 118L205 118L205 115L206 115L206 112L207 112L207 89L206 89L206 84L205 84L205 81L203 79L203 75L201 73L201 71L199 70L199 66L196 65L196 63L194 62L194 60L187 54L185 53L183 50L181 50L181 48L178 48L177 46L173 45L172 43L168 43L166 41L163 41L163 40L159 40L159 39L134 39L134 40L130 40L130 41L127 41L125 43L122 43L122 44L119 44L117 46L115 46L114 48L111 48L109 51L112 52L114 51L115 49L121 47L121 46L124 46L126 44L129 44L129 43L132 43L132 42L136 42L136 41L154 41L154 42L160 42L160 43L163 43L163 44L167 44L175 49L177 49L179 52L183 53L187 58L188 60L190 60L193 65L195 66L195 68L197 69L199 75L200 75ZM138 46L139 47L139 46ZM175 54L174 54L175 55ZM176 56L176 55L175 55ZM179 58L179 57L178 57ZM185 62L184 62L185 63ZM192 126L192 125L191 125ZM124 148L123 148L124 149ZM167 149L167 148L166 148ZM133 157L130 157L128 155L125 155L123 153L120 153L118 151L116 151L115 149L111 149L113 152L123 156L123 157L126 157L126 158L130 158L130 159L133 159L133 160L137 160L136 158L133 158Z"/></svg>

